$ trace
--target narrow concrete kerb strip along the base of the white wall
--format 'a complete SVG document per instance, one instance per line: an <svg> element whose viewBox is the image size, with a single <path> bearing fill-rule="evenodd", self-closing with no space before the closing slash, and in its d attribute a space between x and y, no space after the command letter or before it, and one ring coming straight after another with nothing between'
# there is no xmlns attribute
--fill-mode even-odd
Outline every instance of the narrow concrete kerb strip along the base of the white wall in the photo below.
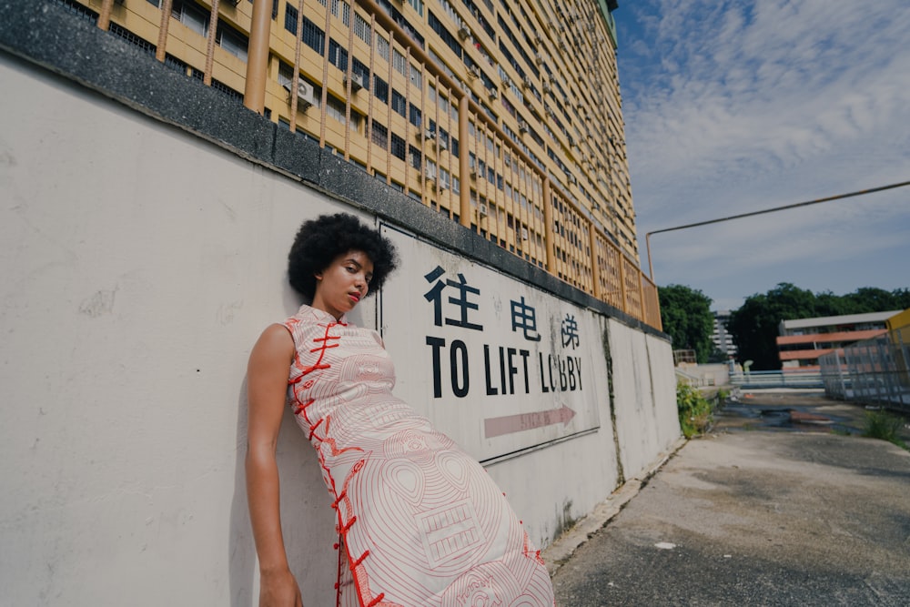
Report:
<svg viewBox="0 0 910 607"><path fill-rule="evenodd" d="M688 442L687 439L680 438L672 444L670 450L662 453L657 460L654 460L642 474L634 479L625 481L611 496L602 501L586 517L575 523L569 531L563 533L557 541L551 543L546 550L541 551L543 561L547 563L547 571L552 577L560 567L569 561L571 555L579 549L581 544L588 541L591 535L606 527L613 517L625 508L625 505L632 501L642 487L647 484L658 470L667 463L682 447Z"/></svg>

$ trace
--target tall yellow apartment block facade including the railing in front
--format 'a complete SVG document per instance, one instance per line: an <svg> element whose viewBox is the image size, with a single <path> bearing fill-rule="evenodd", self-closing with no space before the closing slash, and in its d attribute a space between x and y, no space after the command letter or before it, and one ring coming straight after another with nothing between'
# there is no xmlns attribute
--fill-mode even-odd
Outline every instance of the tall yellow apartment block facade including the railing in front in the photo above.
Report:
<svg viewBox="0 0 910 607"><path fill-rule="evenodd" d="M251 0L59 2L660 328L639 269L616 2L273 0L257 25Z"/></svg>

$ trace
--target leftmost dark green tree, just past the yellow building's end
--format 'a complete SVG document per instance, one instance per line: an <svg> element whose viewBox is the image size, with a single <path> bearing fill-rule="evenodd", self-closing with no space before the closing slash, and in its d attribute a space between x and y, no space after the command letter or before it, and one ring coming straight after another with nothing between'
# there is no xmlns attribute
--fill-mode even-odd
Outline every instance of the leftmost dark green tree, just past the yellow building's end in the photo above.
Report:
<svg viewBox="0 0 910 607"><path fill-rule="evenodd" d="M673 349L693 349L698 362L707 362L713 351L712 299L702 291L682 285L657 289L661 301L663 331L673 340Z"/></svg>

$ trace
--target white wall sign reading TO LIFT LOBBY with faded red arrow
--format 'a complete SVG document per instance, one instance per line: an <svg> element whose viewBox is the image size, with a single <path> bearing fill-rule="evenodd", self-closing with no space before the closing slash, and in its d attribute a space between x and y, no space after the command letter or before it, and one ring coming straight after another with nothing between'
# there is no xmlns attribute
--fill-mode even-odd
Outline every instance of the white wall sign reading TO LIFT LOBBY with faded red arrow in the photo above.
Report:
<svg viewBox="0 0 910 607"><path fill-rule="evenodd" d="M608 389L593 312L381 229L401 259L379 301L400 398L481 461L599 427Z"/></svg>

